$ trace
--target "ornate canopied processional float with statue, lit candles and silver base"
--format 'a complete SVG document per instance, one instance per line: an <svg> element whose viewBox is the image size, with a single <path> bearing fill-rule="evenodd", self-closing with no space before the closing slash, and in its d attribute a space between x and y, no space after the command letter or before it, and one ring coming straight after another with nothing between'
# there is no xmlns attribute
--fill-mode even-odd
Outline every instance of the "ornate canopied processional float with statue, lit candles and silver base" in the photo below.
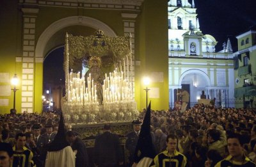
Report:
<svg viewBox="0 0 256 167"><path fill-rule="evenodd" d="M138 117L134 100L131 34L109 37L66 35L65 97L61 109L70 124L130 121ZM81 64L88 69L84 76Z"/></svg>

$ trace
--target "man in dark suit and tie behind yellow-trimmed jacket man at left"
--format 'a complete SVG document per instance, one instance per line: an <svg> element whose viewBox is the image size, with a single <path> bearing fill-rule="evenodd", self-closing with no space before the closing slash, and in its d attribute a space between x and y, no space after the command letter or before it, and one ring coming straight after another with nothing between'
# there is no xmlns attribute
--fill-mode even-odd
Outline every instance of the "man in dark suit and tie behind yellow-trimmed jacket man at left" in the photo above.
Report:
<svg viewBox="0 0 256 167"><path fill-rule="evenodd" d="M45 145L47 144L47 139L42 136L41 133L41 126L40 124L34 124L32 126L32 133L33 133L33 143L36 145L36 150L38 150L38 154L36 154L36 166L44 166L45 158L47 151L45 149Z"/></svg>

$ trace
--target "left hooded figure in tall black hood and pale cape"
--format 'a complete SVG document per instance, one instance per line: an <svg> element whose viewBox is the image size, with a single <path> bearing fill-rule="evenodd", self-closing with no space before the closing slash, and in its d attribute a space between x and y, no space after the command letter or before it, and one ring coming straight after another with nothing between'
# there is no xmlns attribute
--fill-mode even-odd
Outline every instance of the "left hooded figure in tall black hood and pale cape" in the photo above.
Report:
<svg viewBox="0 0 256 167"><path fill-rule="evenodd" d="M65 125L63 122L63 115L61 113L58 133L52 143L47 145L45 167L73 167L75 166L75 159L75 153L65 138Z"/></svg>

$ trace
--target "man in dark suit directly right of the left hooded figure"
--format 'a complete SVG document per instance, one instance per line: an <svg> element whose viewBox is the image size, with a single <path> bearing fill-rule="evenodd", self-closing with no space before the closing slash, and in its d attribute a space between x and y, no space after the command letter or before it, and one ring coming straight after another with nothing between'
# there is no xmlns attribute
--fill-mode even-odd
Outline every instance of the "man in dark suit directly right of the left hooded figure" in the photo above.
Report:
<svg viewBox="0 0 256 167"><path fill-rule="evenodd" d="M76 153L76 167L88 167L89 160L84 142L74 131L67 131L66 139L70 143L72 150Z"/></svg>

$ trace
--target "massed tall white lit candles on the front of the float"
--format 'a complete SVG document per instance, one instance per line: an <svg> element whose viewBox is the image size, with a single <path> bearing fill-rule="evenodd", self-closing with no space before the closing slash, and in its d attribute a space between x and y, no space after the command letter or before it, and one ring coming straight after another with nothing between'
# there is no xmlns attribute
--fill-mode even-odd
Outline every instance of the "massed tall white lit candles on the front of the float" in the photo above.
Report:
<svg viewBox="0 0 256 167"><path fill-rule="evenodd" d="M91 74L87 78L87 87L85 78L84 76L80 77L80 73L76 74L71 71L69 78L68 103L71 104L99 103L97 91L102 91L100 94L103 98L103 104L134 99L132 82L125 77L122 71L115 70L113 73L109 73L109 76L105 73L103 85L95 83Z"/></svg>

